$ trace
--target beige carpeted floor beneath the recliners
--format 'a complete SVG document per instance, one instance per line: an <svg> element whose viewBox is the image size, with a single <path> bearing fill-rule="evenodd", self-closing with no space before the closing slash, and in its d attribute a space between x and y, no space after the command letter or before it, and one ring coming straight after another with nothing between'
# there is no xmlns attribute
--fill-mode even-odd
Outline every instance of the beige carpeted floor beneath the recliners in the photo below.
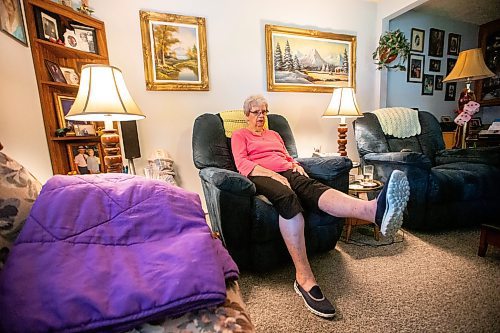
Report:
<svg viewBox="0 0 500 333"><path fill-rule="evenodd" d="M339 241L311 260L337 309L333 320L307 311L293 290L292 264L265 275L243 272L257 332L500 332L500 249L477 256L478 228L400 231L395 243L377 247L363 245L376 244L368 236L353 237L356 243Z"/></svg>

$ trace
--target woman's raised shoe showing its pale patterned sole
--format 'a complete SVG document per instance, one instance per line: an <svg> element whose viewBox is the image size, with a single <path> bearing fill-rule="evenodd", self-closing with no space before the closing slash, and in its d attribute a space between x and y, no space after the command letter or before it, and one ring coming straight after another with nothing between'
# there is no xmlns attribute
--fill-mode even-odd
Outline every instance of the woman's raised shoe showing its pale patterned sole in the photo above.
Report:
<svg viewBox="0 0 500 333"><path fill-rule="evenodd" d="M394 170L377 197L375 223L384 236L394 236L403 224L403 214L410 198L410 186L404 172Z"/></svg>

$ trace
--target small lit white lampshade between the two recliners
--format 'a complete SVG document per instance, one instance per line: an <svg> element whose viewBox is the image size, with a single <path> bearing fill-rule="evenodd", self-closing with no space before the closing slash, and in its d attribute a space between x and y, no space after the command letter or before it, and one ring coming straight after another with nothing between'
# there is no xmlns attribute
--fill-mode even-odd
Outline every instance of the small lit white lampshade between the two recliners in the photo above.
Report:
<svg viewBox="0 0 500 333"><path fill-rule="evenodd" d="M333 90L332 99L323 113L324 118L362 117L353 88L337 88Z"/></svg>

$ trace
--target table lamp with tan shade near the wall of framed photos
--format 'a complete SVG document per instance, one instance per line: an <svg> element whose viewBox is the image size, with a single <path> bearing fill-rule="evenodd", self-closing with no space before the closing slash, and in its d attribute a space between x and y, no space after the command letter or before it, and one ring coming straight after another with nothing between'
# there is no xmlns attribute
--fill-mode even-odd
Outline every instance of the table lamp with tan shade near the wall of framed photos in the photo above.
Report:
<svg viewBox="0 0 500 333"><path fill-rule="evenodd" d="M486 79L492 76L495 76L495 73L490 71L490 69L486 66L486 64L484 63L483 53L480 48L477 48L460 52L455 66L451 70L450 74L448 74L448 76L443 80L443 82L465 81L465 89L462 90L458 99L458 109L462 111L465 104L470 101L476 101L476 95L470 89L471 82ZM461 135L460 131L462 132ZM466 148L466 136L467 122L464 123L463 127L457 127L457 132L455 134L455 141L461 141L461 148ZM458 146L458 144L455 143L455 146Z"/></svg>

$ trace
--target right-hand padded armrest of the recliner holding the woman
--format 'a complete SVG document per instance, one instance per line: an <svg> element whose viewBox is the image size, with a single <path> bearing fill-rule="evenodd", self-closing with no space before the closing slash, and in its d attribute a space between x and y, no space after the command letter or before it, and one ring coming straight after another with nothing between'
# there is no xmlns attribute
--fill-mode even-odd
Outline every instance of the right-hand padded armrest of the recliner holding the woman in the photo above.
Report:
<svg viewBox="0 0 500 333"><path fill-rule="evenodd" d="M352 168L352 161L347 157L306 157L297 158L297 162L307 174L317 180L332 180L339 175L348 173Z"/></svg>

